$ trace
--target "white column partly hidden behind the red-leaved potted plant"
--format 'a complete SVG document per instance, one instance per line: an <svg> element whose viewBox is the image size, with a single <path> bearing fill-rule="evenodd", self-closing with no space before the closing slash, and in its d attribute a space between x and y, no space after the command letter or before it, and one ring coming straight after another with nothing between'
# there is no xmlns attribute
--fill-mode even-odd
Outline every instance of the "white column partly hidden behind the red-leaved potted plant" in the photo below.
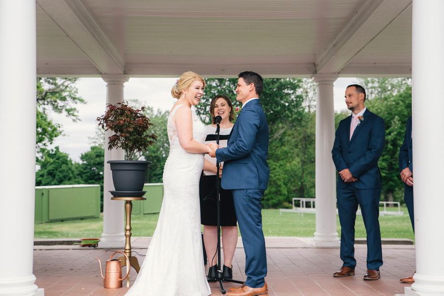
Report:
<svg viewBox="0 0 444 296"><path fill-rule="evenodd" d="M107 83L107 103L116 104L123 101L123 84L128 81L127 75L102 75ZM124 201L111 200L110 191L115 190L108 161L125 159L122 149L108 150L108 138L111 131L105 133L105 169L103 184L103 233L99 242L100 248L123 248L125 246Z"/></svg>

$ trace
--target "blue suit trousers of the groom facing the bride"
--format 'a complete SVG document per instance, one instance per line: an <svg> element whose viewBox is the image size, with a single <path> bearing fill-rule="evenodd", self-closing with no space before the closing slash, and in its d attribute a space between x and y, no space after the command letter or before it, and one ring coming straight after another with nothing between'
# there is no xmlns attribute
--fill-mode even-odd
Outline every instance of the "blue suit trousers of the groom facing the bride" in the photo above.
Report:
<svg viewBox="0 0 444 296"><path fill-rule="evenodd" d="M264 190L235 189L233 193L239 230L245 251L245 285L263 287L267 275L267 254L262 232L262 203Z"/></svg>

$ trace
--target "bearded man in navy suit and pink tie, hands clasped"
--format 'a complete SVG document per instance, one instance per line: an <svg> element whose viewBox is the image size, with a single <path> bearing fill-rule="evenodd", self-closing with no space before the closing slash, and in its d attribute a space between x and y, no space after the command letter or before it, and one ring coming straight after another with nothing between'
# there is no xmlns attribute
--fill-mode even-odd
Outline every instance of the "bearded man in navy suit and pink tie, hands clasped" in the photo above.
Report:
<svg viewBox="0 0 444 296"><path fill-rule="evenodd" d="M333 162L338 172L337 209L341 224L341 268L334 277L355 274L355 221L358 204L367 231L367 272L365 280L380 278L382 265L379 197L381 173L378 160L385 143L384 120L365 106L366 91L360 85L349 85L345 103L352 115L343 119L336 130Z"/></svg>

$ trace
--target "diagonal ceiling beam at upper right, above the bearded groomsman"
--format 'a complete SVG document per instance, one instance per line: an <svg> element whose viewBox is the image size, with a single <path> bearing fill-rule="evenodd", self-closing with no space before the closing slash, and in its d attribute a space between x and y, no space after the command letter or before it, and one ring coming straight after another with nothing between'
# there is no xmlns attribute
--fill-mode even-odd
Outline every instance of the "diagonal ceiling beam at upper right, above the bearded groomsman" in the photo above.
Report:
<svg viewBox="0 0 444 296"><path fill-rule="evenodd" d="M316 72L339 73L410 5L411 0L367 0L316 60Z"/></svg>

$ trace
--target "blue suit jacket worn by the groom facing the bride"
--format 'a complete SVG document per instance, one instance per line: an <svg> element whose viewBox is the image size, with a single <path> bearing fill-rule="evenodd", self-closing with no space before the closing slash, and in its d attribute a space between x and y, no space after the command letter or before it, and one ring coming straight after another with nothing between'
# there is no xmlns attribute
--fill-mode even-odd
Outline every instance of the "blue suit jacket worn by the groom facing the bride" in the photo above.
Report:
<svg viewBox="0 0 444 296"><path fill-rule="evenodd" d="M268 125L259 99L242 107L228 138L227 147L216 150L223 163L223 189L267 189Z"/></svg>

